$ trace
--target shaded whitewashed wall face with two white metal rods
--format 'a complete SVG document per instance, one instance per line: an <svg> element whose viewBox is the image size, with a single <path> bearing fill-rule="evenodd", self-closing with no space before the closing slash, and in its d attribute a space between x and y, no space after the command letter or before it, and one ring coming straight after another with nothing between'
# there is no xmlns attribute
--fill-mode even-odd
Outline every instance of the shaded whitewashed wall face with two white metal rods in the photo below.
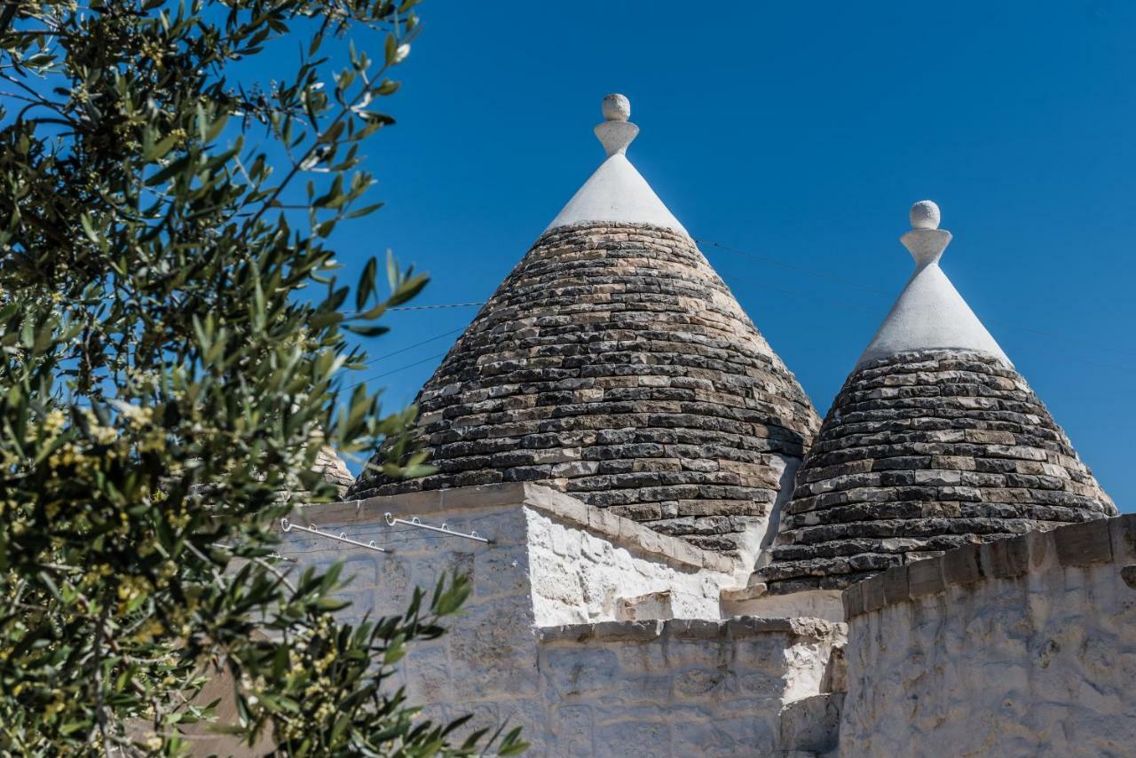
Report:
<svg viewBox="0 0 1136 758"><path fill-rule="evenodd" d="M527 577L526 518L512 506L487 510L451 510L424 516L427 524L445 522L459 532L476 530L493 538L486 545L377 519L318 524L319 528L391 548L378 553L325 538L290 532L281 553L307 565L345 560L344 576L354 576L342 593L352 605L340 613L358 623L401 614L416 586L433 591L440 576L458 570L473 577L473 593L462 611L448 620L437 640L416 642L399 666L398 684L431 718L453 719L467 713L478 726L543 720L533 602Z"/></svg>

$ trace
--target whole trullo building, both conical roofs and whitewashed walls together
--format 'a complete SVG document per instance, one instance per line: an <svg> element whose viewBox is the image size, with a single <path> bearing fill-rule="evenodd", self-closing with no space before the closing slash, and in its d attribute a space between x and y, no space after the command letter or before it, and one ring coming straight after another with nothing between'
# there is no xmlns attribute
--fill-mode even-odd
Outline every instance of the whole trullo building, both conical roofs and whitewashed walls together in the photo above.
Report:
<svg viewBox="0 0 1136 758"><path fill-rule="evenodd" d="M1136 516L1104 518L939 268L938 207L912 208L916 270L820 426L627 160L629 114L605 99L607 159L423 389L436 473L295 506L323 531L282 532L283 570L343 561L352 623L468 576L448 633L395 674L426 717L473 717L459 740L520 725L548 758L1133 755ZM317 468L349 477L333 451ZM231 703L231 680L210 688L201 705ZM265 752L211 739L202 755Z"/></svg>

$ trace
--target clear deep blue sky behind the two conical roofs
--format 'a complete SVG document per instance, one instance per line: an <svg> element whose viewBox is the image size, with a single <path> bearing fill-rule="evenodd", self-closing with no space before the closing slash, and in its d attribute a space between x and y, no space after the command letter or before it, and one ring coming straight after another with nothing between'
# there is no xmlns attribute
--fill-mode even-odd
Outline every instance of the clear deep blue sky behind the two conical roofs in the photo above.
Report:
<svg viewBox="0 0 1136 758"><path fill-rule="evenodd" d="M896 239L929 198L954 234L944 269L1136 510L1136 3L420 13L387 102L399 123L369 147L387 205L337 233L349 268L392 248L433 276L419 303L484 300L599 165L600 99L624 92L642 128L630 159L696 239L753 253L702 245L820 413L910 275ZM475 313L393 315L368 350ZM456 338L361 376L393 372L371 384L410 401Z"/></svg>

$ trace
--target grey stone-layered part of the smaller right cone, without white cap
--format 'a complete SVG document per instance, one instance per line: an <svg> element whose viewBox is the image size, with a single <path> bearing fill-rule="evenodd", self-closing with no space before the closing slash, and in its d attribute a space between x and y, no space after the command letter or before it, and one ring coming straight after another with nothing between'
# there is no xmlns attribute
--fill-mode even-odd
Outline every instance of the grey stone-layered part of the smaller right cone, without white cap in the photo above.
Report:
<svg viewBox="0 0 1136 758"><path fill-rule="evenodd" d="M1018 372L908 352L854 372L796 475L770 592L844 588L963 544L1116 513Z"/></svg>

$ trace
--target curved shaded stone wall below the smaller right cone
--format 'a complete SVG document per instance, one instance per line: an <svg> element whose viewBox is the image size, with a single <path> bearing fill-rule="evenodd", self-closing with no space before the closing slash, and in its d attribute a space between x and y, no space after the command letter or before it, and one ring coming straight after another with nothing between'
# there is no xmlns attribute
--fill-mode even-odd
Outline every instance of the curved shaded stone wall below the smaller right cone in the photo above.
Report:
<svg viewBox="0 0 1136 758"><path fill-rule="evenodd" d="M1136 515L953 550L844 600L841 755L1133 755Z"/></svg>

